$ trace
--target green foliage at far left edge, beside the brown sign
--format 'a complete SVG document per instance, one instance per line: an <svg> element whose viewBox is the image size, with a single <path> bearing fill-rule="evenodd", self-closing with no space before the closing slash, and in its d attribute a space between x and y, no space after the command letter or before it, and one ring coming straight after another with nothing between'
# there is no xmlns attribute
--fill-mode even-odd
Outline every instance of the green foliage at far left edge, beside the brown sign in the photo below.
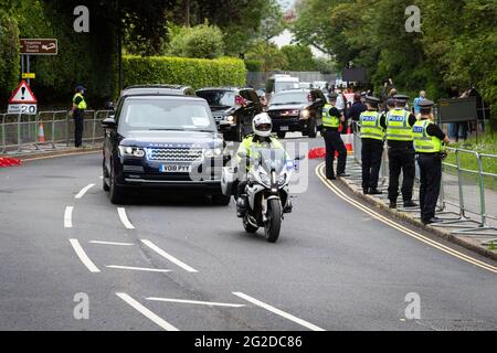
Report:
<svg viewBox="0 0 497 353"><path fill-rule="evenodd" d="M19 77L19 30L0 9L0 99L6 101Z"/></svg>

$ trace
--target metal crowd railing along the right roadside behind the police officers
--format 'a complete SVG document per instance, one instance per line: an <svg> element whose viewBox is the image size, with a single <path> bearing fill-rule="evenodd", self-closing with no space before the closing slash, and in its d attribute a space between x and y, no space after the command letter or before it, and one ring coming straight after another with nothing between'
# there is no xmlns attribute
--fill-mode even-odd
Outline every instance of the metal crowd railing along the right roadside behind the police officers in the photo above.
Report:
<svg viewBox="0 0 497 353"><path fill-rule="evenodd" d="M353 158L361 162L362 141L360 133L353 136ZM455 162L443 162L442 186L437 214L443 218L436 227L448 228L453 234L496 237L497 236L497 174L489 165L497 165L496 154L478 153L461 148L446 148L455 156ZM463 160L465 163L463 163ZM388 151L383 151L380 170L380 186L389 180ZM468 167L469 165L469 167ZM416 184L419 184L416 163ZM380 195L385 197L385 195ZM409 210L406 210L409 211ZM497 243L496 238L483 244Z"/></svg>

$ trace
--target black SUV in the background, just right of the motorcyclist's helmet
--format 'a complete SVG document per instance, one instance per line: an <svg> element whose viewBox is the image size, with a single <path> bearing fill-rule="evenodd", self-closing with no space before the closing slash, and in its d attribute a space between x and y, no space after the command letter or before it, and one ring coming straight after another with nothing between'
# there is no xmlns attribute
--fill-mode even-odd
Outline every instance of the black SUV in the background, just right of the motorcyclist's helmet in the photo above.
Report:
<svg viewBox="0 0 497 353"><path fill-rule="evenodd" d="M322 125L326 97L320 89L289 89L271 97L267 114L273 120L273 131L283 139L286 132L300 131L315 138Z"/></svg>

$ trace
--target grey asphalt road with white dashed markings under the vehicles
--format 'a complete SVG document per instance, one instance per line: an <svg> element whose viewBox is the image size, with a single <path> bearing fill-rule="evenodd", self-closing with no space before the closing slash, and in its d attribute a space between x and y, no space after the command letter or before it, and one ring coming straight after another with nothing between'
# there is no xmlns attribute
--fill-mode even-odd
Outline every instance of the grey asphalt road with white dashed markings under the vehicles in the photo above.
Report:
<svg viewBox="0 0 497 353"><path fill-rule="evenodd" d="M497 329L495 263L337 195L321 161L268 244L233 203L112 205L101 156L0 170L0 330ZM88 319L74 317L77 293Z"/></svg>

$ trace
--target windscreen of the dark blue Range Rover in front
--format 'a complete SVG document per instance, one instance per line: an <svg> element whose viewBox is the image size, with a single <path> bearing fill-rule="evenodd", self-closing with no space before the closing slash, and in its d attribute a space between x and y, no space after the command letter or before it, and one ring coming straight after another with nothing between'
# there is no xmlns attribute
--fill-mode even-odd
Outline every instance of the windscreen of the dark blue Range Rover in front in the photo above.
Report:
<svg viewBox="0 0 497 353"><path fill-rule="evenodd" d="M119 132L134 130L215 131L215 122L201 101L128 98L123 106Z"/></svg>

